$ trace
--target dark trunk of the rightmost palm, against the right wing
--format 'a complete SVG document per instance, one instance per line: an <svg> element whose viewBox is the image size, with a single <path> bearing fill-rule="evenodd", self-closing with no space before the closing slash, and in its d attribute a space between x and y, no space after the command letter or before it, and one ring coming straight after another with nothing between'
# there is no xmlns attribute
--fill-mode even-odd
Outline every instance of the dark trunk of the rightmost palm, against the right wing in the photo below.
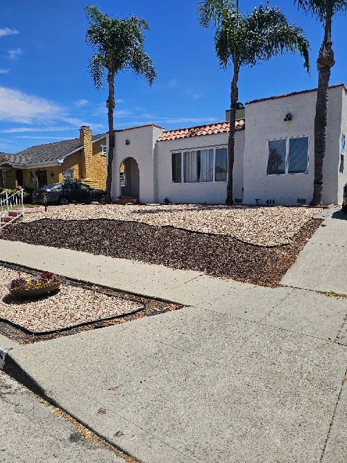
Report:
<svg viewBox="0 0 347 463"><path fill-rule="evenodd" d="M332 10L325 16L324 40L319 50L317 60L318 88L316 101L316 115L314 117L314 188L311 201L312 206L322 204L323 193L323 161L326 147L328 124L328 91L330 70L335 65L334 51L331 40Z"/></svg>

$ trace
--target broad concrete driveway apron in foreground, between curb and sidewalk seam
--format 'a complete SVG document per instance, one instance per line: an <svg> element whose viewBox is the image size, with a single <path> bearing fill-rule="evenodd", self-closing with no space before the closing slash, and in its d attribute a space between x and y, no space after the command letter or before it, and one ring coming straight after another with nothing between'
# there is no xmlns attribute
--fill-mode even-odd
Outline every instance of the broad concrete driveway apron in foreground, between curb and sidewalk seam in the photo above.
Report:
<svg viewBox="0 0 347 463"><path fill-rule="evenodd" d="M347 349L337 343L190 307L8 357L8 373L19 366L141 462L346 460Z"/></svg>

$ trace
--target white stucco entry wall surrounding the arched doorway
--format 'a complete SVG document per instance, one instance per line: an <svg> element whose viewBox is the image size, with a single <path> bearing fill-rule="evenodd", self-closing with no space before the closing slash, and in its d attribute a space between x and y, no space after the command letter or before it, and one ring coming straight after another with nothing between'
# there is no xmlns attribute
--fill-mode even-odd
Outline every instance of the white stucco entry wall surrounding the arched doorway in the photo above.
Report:
<svg viewBox="0 0 347 463"><path fill-rule="evenodd" d="M112 199L120 195L119 166L131 157L139 167L139 200L155 202L153 148L162 129L155 126L136 127L115 132L115 151L112 164ZM127 145L126 140L130 143Z"/></svg>

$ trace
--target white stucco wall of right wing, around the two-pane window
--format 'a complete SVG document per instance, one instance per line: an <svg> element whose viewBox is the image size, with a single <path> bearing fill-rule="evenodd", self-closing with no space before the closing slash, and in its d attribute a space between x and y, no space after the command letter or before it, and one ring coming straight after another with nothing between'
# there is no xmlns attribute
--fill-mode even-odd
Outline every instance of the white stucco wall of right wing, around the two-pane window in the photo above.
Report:
<svg viewBox="0 0 347 463"><path fill-rule="evenodd" d="M337 172L341 131L343 86L330 88L328 137L323 165L323 202L337 202ZM276 204L297 204L298 198L310 203L314 181L314 113L316 92L267 99L246 105L246 140L244 147L244 204L275 200ZM285 122L287 113L293 120ZM266 174L269 140L309 137L308 172L302 174Z"/></svg>

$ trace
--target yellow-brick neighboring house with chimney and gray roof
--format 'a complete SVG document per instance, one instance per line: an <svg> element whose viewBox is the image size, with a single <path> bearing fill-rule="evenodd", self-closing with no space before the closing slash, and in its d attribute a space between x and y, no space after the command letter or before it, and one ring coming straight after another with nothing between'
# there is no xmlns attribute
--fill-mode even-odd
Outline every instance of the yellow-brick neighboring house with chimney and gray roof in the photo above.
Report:
<svg viewBox="0 0 347 463"><path fill-rule="evenodd" d="M64 179L106 186L106 136L92 136L89 127L80 137L37 145L16 154L0 153L0 188L40 188Z"/></svg>

